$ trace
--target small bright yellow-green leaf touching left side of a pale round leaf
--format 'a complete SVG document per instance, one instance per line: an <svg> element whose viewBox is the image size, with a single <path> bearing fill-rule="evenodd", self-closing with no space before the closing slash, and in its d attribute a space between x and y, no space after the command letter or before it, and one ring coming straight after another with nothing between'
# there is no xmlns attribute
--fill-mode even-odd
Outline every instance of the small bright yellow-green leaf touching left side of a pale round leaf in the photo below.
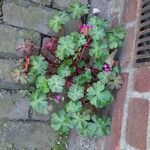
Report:
<svg viewBox="0 0 150 150"><path fill-rule="evenodd" d="M48 93L48 81L45 76L39 76L36 80L36 88L41 91L41 93Z"/></svg>

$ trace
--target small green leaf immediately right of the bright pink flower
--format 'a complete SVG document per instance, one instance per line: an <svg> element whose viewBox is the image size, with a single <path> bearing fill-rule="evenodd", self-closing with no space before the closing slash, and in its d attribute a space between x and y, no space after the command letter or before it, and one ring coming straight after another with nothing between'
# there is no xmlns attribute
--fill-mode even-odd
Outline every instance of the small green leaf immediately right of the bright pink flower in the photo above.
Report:
<svg viewBox="0 0 150 150"><path fill-rule="evenodd" d="M94 40L101 40L106 36L105 30L100 27L92 28L89 34Z"/></svg>

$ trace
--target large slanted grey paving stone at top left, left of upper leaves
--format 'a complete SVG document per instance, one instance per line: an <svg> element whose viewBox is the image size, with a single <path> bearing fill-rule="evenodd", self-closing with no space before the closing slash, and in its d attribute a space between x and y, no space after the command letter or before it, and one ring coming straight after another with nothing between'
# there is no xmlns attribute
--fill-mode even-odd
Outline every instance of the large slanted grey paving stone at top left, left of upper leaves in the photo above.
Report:
<svg viewBox="0 0 150 150"><path fill-rule="evenodd" d="M5 0L3 2L3 20L8 24L32 29L46 35L54 32L48 28L48 19L57 11L51 8L34 5L29 1Z"/></svg>

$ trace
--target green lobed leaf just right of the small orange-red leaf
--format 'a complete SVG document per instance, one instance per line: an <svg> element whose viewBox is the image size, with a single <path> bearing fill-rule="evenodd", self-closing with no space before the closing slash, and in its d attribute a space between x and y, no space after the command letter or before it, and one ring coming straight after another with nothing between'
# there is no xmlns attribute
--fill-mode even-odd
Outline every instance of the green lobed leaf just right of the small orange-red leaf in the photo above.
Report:
<svg viewBox="0 0 150 150"><path fill-rule="evenodd" d="M37 76L45 75L47 68L48 63L43 56L31 56L28 81L32 83L36 80Z"/></svg>

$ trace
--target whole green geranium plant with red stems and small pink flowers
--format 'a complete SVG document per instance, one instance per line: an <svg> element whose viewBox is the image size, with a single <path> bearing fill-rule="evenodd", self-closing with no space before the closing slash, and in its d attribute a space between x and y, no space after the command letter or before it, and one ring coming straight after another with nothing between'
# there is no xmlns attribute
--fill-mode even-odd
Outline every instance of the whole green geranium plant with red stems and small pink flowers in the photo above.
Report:
<svg viewBox="0 0 150 150"><path fill-rule="evenodd" d="M50 18L48 25L54 32L61 33L65 23L80 20L88 9L75 3L67 12ZM97 16L87 18L87 23L77 28L69 35L47 39L43 55L26 56L30 59L28 83L34 87L30 104L34 111L48 114L51 101L57 105L64 101L64 108L51 116L54 130L68 133L75 128L85 137L102 137L110 133L111 121L97 110L110 105L113 90L121 87L114 56L123 44L125 31L122 26L111 28L106 19Z"/></svg>

